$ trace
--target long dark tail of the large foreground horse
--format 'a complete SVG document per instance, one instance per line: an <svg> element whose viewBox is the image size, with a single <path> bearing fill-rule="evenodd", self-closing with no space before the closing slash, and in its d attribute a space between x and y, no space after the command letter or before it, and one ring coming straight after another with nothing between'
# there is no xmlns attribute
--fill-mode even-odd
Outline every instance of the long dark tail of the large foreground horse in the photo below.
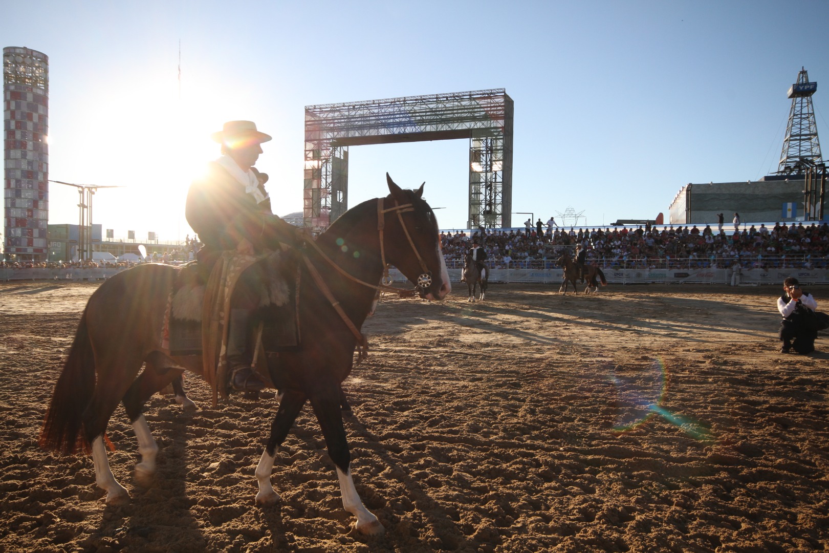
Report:
<svg viewBox="0 0 829 553"><path fill-rule="evenodd" d="M57 379L49 410L46 411L46 420L41 429L42 448L64 454L74 454L79 446L81 449L89 449L86 439L79 434L83 425L82 415L94 391L95 355L84 311L75 332L75 342L72 342L69 357Z"/></svg>

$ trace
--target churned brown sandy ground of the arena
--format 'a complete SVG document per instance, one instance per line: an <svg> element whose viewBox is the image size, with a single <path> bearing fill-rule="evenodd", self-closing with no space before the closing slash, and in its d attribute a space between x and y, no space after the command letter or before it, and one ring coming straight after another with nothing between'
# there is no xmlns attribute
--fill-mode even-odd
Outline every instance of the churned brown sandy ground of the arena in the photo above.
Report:
<svg viewBox="0 0 829 553"><path fill-rule="evenodd" d="M149 488L115 412L125 507L104 504L91 458L39 449L96 286L0 284L0 551L829 551L829 355L778 353L778 287L385 299L344 384L356 487L387 529L369 538L351 530L308 407L274 467L274 507L255 507L254 468L276 400L214 410L195 377L201 410L147 405Z"/></svg>

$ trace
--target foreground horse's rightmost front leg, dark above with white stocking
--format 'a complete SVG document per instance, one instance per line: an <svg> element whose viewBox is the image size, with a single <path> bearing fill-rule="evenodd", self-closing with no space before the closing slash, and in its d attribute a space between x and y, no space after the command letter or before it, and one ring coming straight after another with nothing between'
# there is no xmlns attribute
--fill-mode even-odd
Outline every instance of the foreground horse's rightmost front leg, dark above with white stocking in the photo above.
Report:
<svg viewBox="0 0 829 553"><path fill-rule="evenodd" d="M337 465L342 507L356 517L354 527L357 531L371 536L384 534L385 528L363 505L351 478L351 453L348 451L346 429L342 425L338 386L326 386L326 390L310 399L314 414L317 415L322 427L322 434L325 436L328 456Z"/></svg>

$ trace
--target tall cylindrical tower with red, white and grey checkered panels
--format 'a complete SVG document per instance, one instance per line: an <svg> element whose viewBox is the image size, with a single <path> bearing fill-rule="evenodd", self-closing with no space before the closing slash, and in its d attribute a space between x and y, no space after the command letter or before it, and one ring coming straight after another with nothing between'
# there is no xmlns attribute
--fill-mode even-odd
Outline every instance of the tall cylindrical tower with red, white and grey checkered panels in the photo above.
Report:
<svg viewBox="0 0 829 553"><path fill-rule="evenodd" d="M3 242L6 256L46 260L49 245L49 57L2 50Z"/></svg>

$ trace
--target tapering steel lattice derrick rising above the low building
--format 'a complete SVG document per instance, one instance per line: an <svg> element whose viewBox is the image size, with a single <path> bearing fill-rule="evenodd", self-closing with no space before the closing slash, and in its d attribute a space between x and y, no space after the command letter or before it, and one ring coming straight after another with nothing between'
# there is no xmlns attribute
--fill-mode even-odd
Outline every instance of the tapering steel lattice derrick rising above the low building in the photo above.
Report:
<svg viewBox="0 0 829 553"><path fill-rule="evenodd" d="M788 127L780 153L778 175L801 174L807 167L821 163L821 144L817 140L817 124L812 109L812 95L817 82L809 82L805 68L797 73L797 82L788 90L792 109L788 112Z"/></svg>

